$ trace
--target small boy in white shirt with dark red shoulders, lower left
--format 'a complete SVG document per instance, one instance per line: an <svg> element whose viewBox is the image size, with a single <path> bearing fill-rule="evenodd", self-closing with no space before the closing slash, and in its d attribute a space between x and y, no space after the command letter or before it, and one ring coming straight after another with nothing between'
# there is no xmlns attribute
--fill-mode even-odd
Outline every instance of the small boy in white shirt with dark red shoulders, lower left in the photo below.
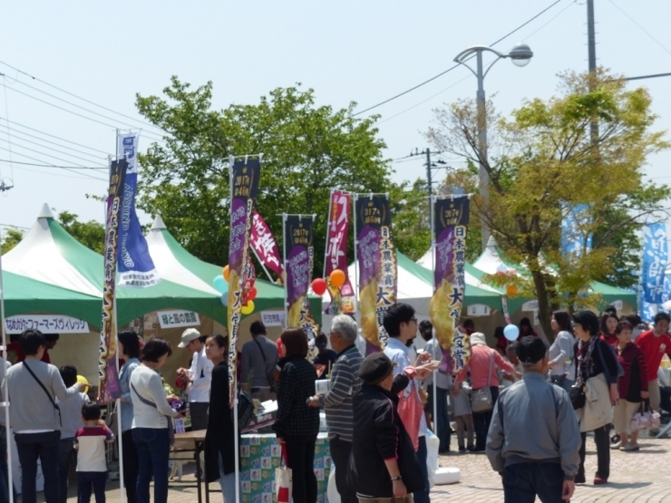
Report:
<svg viewBox="0 0 671 503"><path fill-rule="evenodd" d="M114 434L101 421L100 406L97 403L86 403L82 407L82 418L84 427L74 435L74 449L77 450L77 502L89 503L93 492L95 503L105 503L105 442L112 442Z"/></svg>

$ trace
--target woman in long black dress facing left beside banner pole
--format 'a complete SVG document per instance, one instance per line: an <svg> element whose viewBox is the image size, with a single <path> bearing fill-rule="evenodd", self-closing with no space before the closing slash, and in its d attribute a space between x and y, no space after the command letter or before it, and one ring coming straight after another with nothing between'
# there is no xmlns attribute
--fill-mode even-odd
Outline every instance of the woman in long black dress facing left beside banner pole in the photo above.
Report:
<svg viewBox="0 0 671 503"><path fill-rule="evenodd" d="M214 364L209 390L208 430L205 433L205 477L219 480L224 503L236 499L235 425L230 416L229 338L212 335L205 341L205 355Z"/></svg>

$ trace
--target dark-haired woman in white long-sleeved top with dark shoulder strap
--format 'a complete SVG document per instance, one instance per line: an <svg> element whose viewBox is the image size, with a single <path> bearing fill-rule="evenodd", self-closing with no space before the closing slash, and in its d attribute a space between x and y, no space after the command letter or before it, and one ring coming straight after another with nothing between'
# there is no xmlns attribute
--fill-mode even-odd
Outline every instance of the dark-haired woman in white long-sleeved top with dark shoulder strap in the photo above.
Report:
<svg viewBox="0 0 671 503"><path fill-rule="evenodd" d="M151 339L144 345L142 363L131 374L131 401L133 408L132 438L138 450L140 473L137 482L138 503L150 503L149 485L154 478L155 503L168 501L168 456L172 421L181 413L170 407L178 400L165 396L160 375L156 372L172 353L170 343Z"/></svg>

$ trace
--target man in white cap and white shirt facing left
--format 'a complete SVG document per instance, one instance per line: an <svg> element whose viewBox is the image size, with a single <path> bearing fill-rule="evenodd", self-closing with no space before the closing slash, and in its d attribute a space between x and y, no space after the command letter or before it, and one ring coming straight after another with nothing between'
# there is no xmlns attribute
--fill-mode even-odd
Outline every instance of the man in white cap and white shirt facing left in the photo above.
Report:
<svg viewBox="0 0 671 503"><path fill-rule="evenodd" d="M191 430L207 430L209 408L209 384L212 382L214 365L205 355L205 340L195 328L187 328L181 334L180 348L193 353L189 369L177 369L177 375L187 382L189 410L191 413Z"/></svg>

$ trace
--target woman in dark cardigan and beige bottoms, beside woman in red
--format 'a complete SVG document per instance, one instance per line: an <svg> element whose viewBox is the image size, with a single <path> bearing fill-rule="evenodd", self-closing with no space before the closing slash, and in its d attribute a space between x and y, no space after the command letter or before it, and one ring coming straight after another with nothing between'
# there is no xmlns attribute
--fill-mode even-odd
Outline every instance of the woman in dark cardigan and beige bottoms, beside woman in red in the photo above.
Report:
<svg viewBox="0 0 671 503"><path fill-rule="evenodd" d="M631 430L631 437L627 440L627 431L631 428L631 419L641 407L641 402L647 400L647 366L646 355L631 342L634 330L627 321L618 323L615 334L618 343L615 346L618 352L618 361L625 370L618 381L620 401L613 411L613 425L620 437L618 444L611 449L638 450L638 430Z"/></svg>

